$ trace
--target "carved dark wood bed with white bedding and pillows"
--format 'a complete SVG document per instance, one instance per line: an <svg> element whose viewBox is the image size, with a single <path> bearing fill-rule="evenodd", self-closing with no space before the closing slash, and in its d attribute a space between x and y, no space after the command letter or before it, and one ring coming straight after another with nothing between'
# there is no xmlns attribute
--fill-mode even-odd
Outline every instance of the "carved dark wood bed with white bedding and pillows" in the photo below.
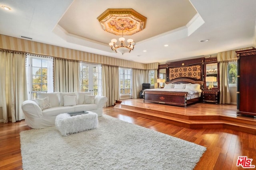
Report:
<svg viewBox="0 0 256 170"><path fill-rule="evenodd" d="M201 101L203 81L177 78L166 82L164 88L146 89L143 102L184 106Z"/></svg>

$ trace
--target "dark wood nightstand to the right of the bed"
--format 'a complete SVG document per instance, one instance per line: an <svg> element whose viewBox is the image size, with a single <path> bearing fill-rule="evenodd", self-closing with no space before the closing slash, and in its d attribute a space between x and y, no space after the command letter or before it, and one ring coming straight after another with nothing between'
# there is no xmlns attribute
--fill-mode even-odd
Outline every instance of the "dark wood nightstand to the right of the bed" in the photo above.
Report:
<svg viewBox="0 0 256 170"><path fill-rule="evenodd" d="M220 102L220 90L202 90L203 102L212 102L218 104Z"/></svg>

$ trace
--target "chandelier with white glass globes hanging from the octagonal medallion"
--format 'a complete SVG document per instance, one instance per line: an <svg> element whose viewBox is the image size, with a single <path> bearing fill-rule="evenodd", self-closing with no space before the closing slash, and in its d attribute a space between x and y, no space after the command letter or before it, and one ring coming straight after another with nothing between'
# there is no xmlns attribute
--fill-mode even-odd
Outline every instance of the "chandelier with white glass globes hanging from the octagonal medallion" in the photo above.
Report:
<svg viewBox="0 0 256 170"><path fill-rule="evenodd" d="M119 45L116 45L117 40L112 39L111 42L109 43L111 49L113 51L116 51L116 53L121 53L124 55L124 53L130 53L131 50L134 49L134 45L136 44L133 39L128 39L127 42L129 45L126 45L125 43L125 38L124 38L124 24L121 24L122 26L122 37L120 37L118 40L120 41Z"/></svg>

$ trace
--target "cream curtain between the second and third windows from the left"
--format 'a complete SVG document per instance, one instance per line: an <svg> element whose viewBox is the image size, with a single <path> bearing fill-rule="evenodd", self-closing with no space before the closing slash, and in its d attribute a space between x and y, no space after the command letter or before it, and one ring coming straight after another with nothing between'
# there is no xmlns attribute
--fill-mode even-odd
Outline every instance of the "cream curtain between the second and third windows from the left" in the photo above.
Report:
<svg viewBox="0 0 256 170"><path fill-rule="evenodd" d="M117 66L102 65L102 95L108 98L106 106L114 106L120 99L119 70Z"/></svg>

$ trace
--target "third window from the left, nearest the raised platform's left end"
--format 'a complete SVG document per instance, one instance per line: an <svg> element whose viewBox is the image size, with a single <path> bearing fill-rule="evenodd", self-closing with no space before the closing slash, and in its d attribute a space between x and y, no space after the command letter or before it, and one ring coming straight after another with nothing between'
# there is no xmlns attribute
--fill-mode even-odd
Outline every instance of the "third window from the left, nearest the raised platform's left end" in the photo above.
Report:
<svg viewBox="0 0 256 170"><path fill-rule="evenodd" d="M132 87L132 70L127 68L120 68L120 95L131 95Z"/></svg>

